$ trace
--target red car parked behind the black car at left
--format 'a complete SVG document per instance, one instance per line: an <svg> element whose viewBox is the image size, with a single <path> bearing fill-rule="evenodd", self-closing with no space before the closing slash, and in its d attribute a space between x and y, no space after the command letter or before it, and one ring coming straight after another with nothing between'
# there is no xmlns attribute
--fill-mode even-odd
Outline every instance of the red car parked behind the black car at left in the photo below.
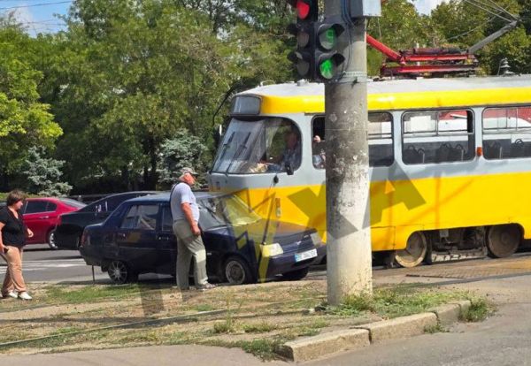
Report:
<svg viewBox="0 0 531 366"><path fill-rule="evenodd" d="M54 232L59 215L85 206L84 203L69 198L28 198L21 212L24 223L34 236L27 239L27 244L47 243L50 248L57 249Z"/></svg>

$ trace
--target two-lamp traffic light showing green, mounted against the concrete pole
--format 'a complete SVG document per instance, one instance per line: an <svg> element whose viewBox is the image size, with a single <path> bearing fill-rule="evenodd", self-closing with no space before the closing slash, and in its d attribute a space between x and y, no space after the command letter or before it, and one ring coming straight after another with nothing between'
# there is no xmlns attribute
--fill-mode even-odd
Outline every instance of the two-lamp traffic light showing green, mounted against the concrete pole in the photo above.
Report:
<svg viewBox="0 0 531 366"><path fill-rule="evenodd" d="M339 23L319 23L315 30L315 74L316 80L327 82L342 74L345 57L339 50L345 26Z"/></svg>

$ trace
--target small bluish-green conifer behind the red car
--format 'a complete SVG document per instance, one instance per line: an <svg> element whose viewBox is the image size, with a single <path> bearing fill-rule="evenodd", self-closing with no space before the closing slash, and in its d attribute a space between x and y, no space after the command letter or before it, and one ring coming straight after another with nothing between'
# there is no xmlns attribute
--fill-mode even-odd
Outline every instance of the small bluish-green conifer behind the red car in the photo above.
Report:
<svg viewBox="0 0 531 366"><path fill-rule="evenodd" d="M72 186L61 181L62 160L45 157L42 148L33 147L28 150L27 158L22 166L22 175L26 178L26 187L30 194L61 196L67 195Z"/></svg>

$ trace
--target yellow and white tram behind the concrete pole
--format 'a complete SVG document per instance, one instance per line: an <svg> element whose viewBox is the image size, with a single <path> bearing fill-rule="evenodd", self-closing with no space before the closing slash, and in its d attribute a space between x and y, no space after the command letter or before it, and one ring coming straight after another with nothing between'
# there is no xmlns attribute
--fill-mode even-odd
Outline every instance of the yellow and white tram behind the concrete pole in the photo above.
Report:
<svg viewBox="0 0 531 366"><path fill-rule="evenodd" d="M373 81L368 93L374 252L412 267L504 257L531 238L531 76ZM235 95L210 189L326 240L324 111L323 85L304 80Z"/></svg>

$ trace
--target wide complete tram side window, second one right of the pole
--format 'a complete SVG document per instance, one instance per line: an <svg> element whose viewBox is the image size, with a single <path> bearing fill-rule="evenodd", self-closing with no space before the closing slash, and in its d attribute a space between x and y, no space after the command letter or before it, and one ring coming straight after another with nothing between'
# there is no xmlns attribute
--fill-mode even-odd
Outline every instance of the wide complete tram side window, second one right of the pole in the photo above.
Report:
<svg viewBox="0 0 531 366"><path fill-rule="evenodd" d="M405 112L402 133L405 164L460 162L475 155L472 111Z"/></svg>

